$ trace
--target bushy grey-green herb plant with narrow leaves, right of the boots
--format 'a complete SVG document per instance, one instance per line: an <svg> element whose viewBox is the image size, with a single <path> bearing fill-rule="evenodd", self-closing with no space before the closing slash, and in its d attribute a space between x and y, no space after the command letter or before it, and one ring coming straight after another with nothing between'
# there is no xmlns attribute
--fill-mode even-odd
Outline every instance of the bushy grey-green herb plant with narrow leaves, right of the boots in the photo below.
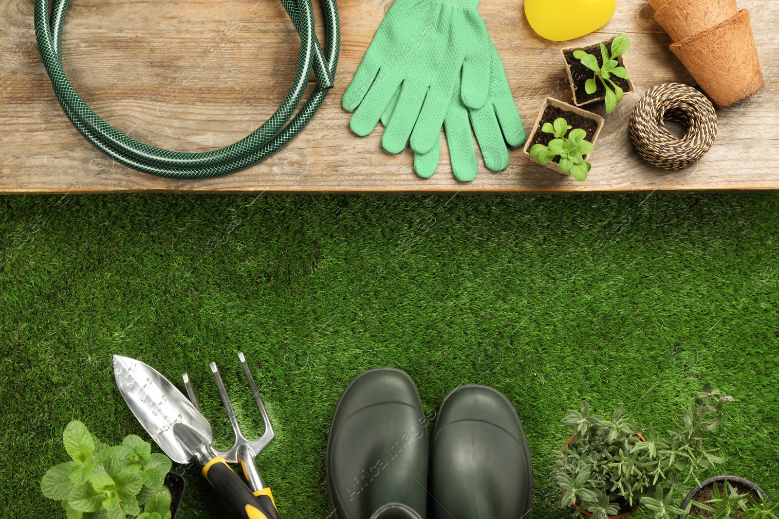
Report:
<svg viewBox="0 0 779 519"><path fill-rule="evenodd" d="M560 453L552 478L562 491L559 506L582 510L593 519L615 515L621 506L643 503L655 519L684 514L675 506L674 493L683 493L698 475L722 463L724 458L707 449L703 440L722 422L723 396L706 384L695 405L682 412L682 423L660 437L651 424L646 437L622 414L618 405L612 417L590 412L587 402L579 411L570 410L562 419L573 437Z"/></svg>

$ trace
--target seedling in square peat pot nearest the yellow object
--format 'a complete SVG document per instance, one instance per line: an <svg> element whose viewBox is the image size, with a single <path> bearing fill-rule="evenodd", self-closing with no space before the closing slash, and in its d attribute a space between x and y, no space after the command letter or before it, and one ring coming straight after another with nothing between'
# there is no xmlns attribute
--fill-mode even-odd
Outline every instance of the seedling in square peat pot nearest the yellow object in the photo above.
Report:
<svg viewBox="0 0 779 519"><path fill-rule="evenodd" d="M611 114L626 93L635 92L625 68L624 54L629 48L629 37L618 34L587 47L562 49L577 107L605 100L606 114Z"/></svg>

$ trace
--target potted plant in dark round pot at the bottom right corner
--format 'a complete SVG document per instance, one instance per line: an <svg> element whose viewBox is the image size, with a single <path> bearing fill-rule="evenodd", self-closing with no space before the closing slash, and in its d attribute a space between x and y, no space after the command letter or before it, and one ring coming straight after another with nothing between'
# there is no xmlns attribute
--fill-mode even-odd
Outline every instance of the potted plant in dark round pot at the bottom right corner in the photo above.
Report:
<svg viewBox="0 0 779 519"><path fill-rule="evenodd" d="M682 503L685 517L717 519L774 519L779 503L749 479L718 475L696 486Z"/></svg>

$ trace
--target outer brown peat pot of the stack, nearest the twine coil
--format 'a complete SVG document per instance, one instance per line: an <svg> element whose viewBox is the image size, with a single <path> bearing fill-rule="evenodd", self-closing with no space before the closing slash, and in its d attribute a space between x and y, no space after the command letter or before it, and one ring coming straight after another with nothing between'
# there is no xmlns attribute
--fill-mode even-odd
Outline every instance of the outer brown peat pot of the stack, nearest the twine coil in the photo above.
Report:
<svg viewBox="0 0 779 519"><path fill-rule="evenodd" d="M671 45L717 107L729 107L766 85L749 22L749 11Z"/></svg>

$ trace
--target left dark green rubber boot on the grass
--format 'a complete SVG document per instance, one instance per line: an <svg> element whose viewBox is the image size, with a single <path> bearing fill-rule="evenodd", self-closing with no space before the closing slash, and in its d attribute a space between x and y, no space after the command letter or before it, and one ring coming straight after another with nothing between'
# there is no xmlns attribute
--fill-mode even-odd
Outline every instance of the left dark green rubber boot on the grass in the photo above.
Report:
<svg viewBox="0 0 779 519"><path fill-rule="evenodd" d="M354 377L330 425L326 475L337 519L425 519L428 429L411 377Z"/></svg>

